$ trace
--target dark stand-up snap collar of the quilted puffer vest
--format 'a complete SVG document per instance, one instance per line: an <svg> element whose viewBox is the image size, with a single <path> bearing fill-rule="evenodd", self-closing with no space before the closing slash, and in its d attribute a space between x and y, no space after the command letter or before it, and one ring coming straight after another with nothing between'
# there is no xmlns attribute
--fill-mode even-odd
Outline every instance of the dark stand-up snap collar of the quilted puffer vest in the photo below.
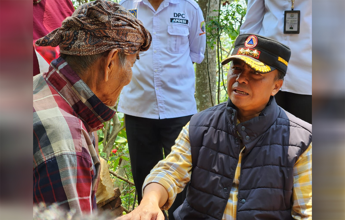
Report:
<svg viewBox="0 0 345 220"><path fill-rule="evenodd" d="M253 149L258 141L258 137L267 131L276 121L279 111L275 98L271 96L266 108L264 108L259 116L239 123L237 126L232 126L232 124L236 125L237 122L237 110L231 100L228 99L226 116L229 121L229 131L235 136L237 136L236 133L238 132L242 143L246 147L246 152L248 152Z"/></svg>

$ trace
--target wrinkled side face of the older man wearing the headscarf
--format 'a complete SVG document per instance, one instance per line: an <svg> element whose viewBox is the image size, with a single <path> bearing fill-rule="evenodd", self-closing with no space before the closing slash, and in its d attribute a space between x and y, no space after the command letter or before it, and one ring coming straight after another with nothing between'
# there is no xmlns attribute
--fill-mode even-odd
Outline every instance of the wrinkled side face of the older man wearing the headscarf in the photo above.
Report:
<svg viewBox="0 0 345 220"><path fill-rule="evenodd" d="M101 101L107 106L115 106L120 96L121 90L128 85L132 79L132 67L137 59L137 54L127 56L127 62L121 67L117 58L117 65L110 70L109 79L103 86L103 99Z"/></svg>

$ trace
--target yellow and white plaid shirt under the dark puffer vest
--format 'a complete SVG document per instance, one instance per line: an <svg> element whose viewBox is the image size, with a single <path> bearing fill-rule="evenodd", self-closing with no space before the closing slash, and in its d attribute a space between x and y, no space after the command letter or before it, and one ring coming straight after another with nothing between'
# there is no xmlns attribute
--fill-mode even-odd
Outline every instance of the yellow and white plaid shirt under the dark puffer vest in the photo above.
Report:
<svg viewBox="0 0 345 220"><path fill-rule="evenodd" d="M241 170L242 151L235 171L234 182L224 210L223 220L236 219L237 195ZM152 182L164 186L168 191L168 201L162 209L169 209L176 194L190 181L192 157L189 143L189 122L182 129L171 153L157 163L146 177L142 190ZM294 219L312 219L312 144L298 158L294 166L293 204L291 215Z"/></svg>

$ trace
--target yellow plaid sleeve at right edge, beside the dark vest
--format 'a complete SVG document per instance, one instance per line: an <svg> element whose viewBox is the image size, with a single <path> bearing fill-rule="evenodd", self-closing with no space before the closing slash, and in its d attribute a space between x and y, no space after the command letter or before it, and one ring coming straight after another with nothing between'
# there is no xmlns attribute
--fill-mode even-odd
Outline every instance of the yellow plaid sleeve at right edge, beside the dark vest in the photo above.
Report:
<svg viewBox="0 0 345 220"><path fill-rule="evenodd" d="M293 206L294 219L312 219L312 143L294 166Z"/></svg>

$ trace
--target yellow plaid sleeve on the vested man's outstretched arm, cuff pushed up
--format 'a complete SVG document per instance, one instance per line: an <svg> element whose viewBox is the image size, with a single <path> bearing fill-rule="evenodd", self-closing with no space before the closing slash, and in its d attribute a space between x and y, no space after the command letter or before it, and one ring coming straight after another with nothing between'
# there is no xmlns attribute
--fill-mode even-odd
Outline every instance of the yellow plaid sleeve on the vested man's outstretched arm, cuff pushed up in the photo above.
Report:
<svg viewBox="0 0 345 220"><path fill-rule="evenodd" d="M152 183L159 183L168 192L168 200L161 209L168 210L176 198L176 194L181 192L190 181L192 158L189 142L189 122L182 129L176 143L171 148L170 154L157 163L146 177L142 186Z"/></svg>

